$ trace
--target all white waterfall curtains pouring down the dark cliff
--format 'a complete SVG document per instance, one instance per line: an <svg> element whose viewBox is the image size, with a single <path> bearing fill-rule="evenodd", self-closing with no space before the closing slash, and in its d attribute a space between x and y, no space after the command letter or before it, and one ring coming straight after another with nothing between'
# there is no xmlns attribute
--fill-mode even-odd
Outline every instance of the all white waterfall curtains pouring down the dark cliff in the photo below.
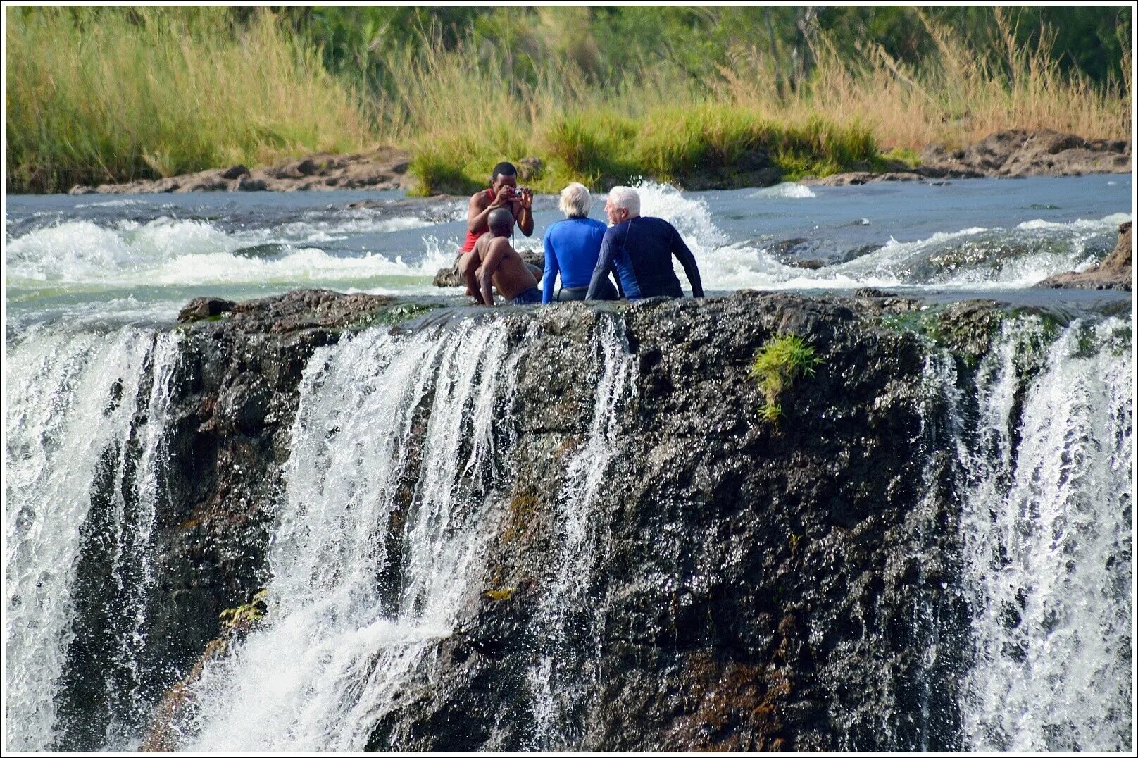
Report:
<svg viewBox="0 0 1138 758"><path fill-rule="evenodd" d="M266 620L188 683L178 747L358 751L415 739L391 719L456 692L440 673L461 664L442 642L487 607L472 603L490 584L513 467L554 448L556 460L535 461L564 476L553 470L561 484L533 521L549 538L533 544L550 551L527 553L529 627L502 661L479 659L513 667L502 718L526 719L494 747L579 749L605 718L604 618L620 602L610 555L627 544L602 495L635 470L620 453L641 431L637 387L651 385L629 347L635 322L599 313L576 374L580 421L533 432L522 417L539 409L527 398L556 365L539 351L563 335L555 321L512 319L370 329L315 351L273 503ZM909 628L882 642L896 665L881 697L848 724L831 715L835 740L844 728L880 739L874 749L1130 747L1131 330L1009 316L974 365L930 346L910 440L922 495L900 525L908 552L896 551L898 568L915 562L916 585L899 595ZM9 345L8 750L138 745L160 678L147 670L147 613L181 351L176 335L140 329L38 328Z"/></svg>

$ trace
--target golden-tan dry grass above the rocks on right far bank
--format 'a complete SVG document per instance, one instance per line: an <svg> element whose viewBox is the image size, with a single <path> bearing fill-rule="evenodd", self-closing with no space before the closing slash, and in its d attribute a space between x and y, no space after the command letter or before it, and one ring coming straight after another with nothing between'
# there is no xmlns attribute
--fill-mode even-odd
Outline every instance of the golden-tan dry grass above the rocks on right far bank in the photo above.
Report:
<svg viewBox="0 0 1138 758"><path fill-rule="evenodd" d="M1013 127L1088 138L1130 135L1130 58L1122 61L1120 81L1096 86L1079 72L1061 71L1053 55L1055 34L1046 27L1038 44L1016 43L1014 27L997 8L1001 44L986 50L916 14L937 48L920 68L872 43L861 49L859 59L843 60L822 38L814 46L817 68L808 86L789 97L780 97L769 57L758 51L741 56L737 68L721 69L712 89L733 102L792 121L826 114L839 124L864 124L881 145L910 149L932 142L959 147Z"/></svg>

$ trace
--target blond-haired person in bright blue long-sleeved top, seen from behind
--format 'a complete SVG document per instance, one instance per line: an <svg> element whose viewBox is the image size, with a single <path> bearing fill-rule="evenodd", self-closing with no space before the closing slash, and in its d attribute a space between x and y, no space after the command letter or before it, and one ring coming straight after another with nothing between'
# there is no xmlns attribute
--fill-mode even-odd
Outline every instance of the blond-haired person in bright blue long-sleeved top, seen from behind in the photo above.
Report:
<svg viewBox="0 0 1138 758"><path fill-rule="evenodd" d="M592 197L588 188L572 182L561 190L558 206L563 221L549 225L542 238L545 249L545 275L542 278L542 303L583 300L601 255L601 240L607 226L588 217ZM561 287L553 296L553 280L560 275ZM605 287L607 285L607 287ZM617 299L617 289L605 277L596 299Z"/></svg>

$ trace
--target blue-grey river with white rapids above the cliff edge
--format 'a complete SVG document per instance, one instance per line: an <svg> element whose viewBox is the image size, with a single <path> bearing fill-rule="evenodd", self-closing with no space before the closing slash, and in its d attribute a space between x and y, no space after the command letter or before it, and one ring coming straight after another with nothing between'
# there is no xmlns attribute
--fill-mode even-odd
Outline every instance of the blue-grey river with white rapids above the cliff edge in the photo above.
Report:
<svg viewBox="0 0 1138 758"><path fill-rule="evenodd" d="M1016 293L1086 266L1130 217L1132 180L1108 174L678 192L645 183L642 213L683 233L709 293L736 289ZM198 295L297 287L438 296L465 234L465 198L401 192L10 196L9 329L60 318L170 321ZM348 208L363 200L387 207ZM603 219L603 198L593 217ZM541 249L561 215L535 200ZM800 265L827 264L816 269ZM686 281L681 275L681 281ZM444 290L460 300L457 290ZM1046 296L1041 296L1046 297Z"/></svg>

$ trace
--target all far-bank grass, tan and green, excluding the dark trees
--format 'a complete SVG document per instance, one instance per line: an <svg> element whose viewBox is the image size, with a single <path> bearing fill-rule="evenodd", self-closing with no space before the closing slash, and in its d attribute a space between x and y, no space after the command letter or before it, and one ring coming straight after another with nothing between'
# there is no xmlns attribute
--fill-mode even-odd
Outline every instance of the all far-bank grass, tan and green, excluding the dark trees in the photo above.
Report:
<svg viewBox="0 0 1138 758"><path fill-rule="evenodd" d="M683 182L762 150L794 178L873 164L879 146L1131 130L1129 59L1120 81L1096 86L1059 71L1047 30L1017 44L999 13L1003 46L984 50L917 13L935 42L918 67L873 44L843 59L817 39L813 72L780 90L780 67L758 47L729 51L708 81L659 63L599 77L587 35L569 39L543 9L549 55L530 79L486 39L453 49L424 39L381 61L380 94L329 75L320 51L267 11L239 27L216 8L6 13L8 183L39 190L380 143L411 151L421 192L477 188L494 163L525 156L545 162L530 180L543 190L636 174Z"/></svg>

